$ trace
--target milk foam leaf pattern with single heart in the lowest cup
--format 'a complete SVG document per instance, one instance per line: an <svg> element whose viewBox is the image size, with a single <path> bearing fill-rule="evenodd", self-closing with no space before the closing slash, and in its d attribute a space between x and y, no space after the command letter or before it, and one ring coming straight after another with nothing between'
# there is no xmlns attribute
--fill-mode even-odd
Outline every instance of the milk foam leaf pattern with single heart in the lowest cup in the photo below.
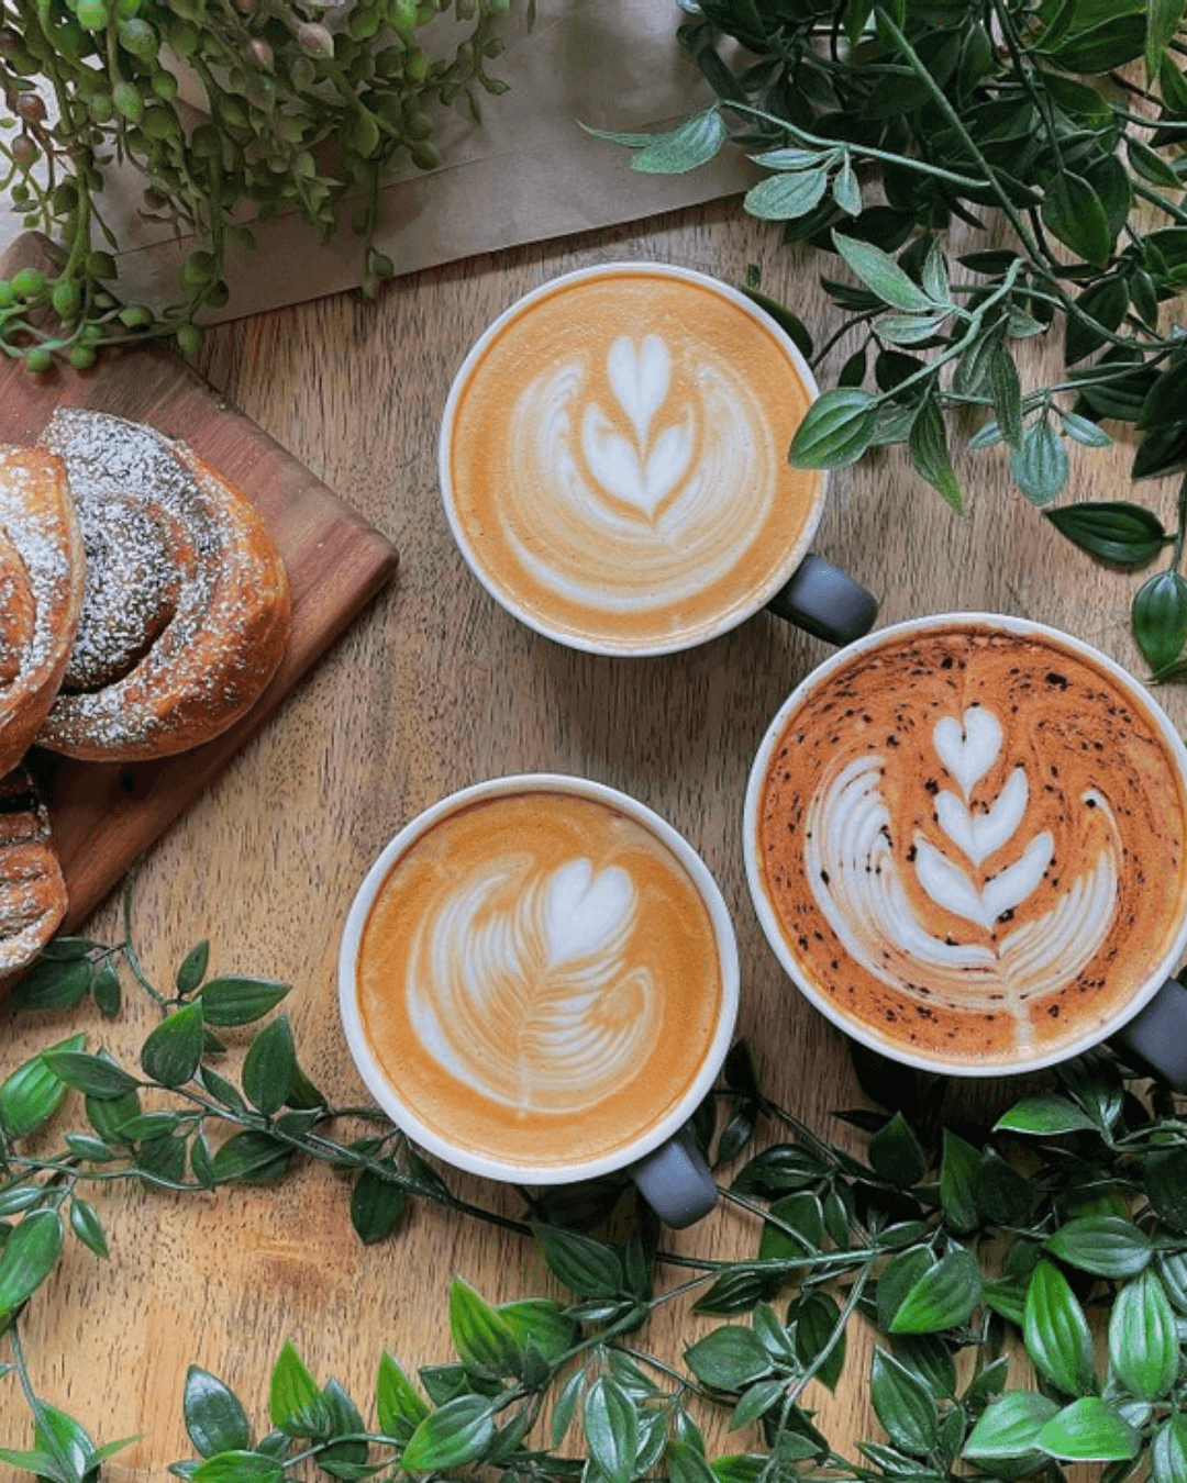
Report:
<svg viewBox="0 0 1187 1483"><path fill-rule="evenodd" d="M656 1035L656 988L628 958L637 916L638 890L620 866L482 863L415 934L405 995L423 1048L521 1112L594 1106Z"/></svg>

